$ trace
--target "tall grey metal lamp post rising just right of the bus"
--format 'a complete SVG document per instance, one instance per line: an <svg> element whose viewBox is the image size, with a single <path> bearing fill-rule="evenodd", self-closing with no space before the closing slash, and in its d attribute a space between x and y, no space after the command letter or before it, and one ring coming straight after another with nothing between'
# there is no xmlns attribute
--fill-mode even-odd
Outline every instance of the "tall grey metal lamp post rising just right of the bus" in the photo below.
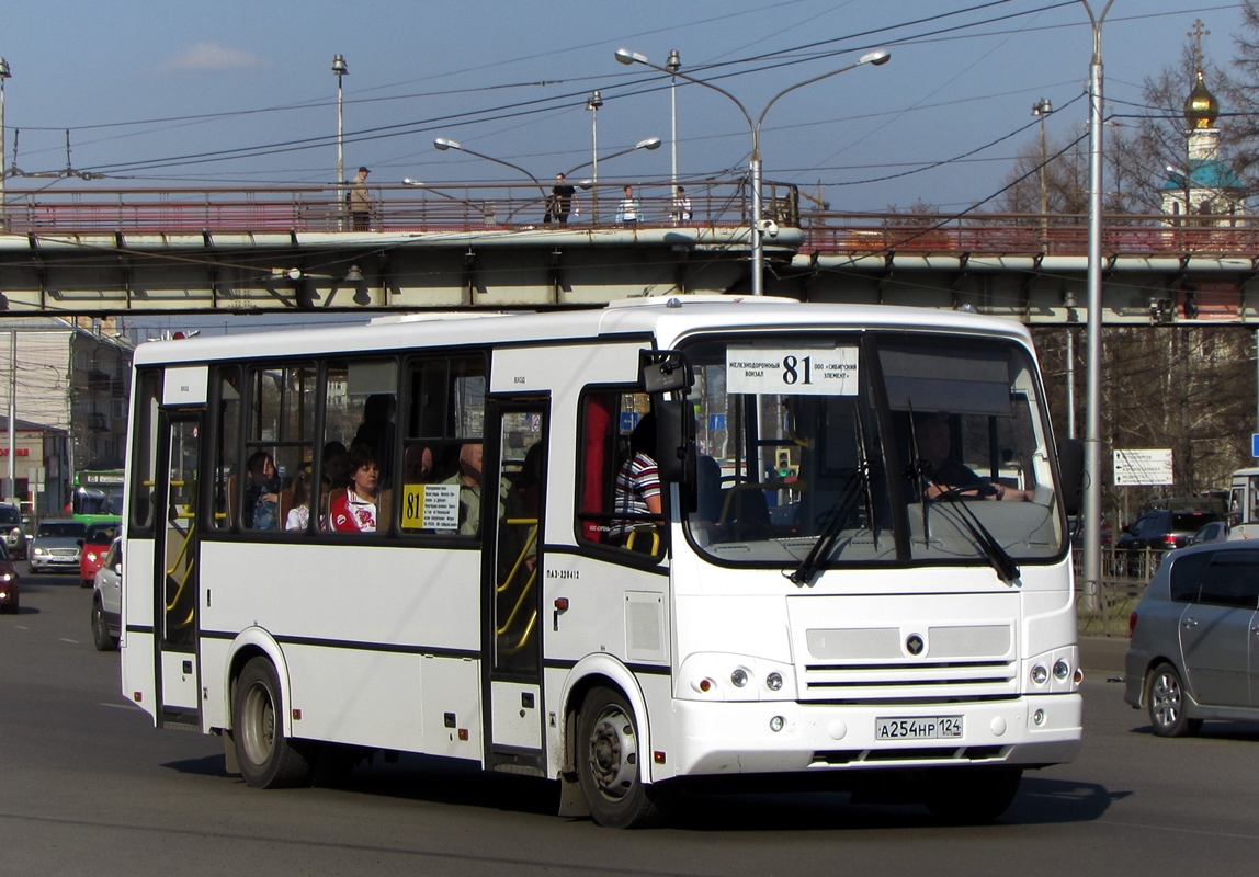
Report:
<svg viewBox="0 0 1259 877"><path fill-rule="evenodd" d="M1089 0L1080 0L1093 25L1089 62L1089 318L1084 411L1084 599L1097 609L1102 596L1102 24Z"/></svg>

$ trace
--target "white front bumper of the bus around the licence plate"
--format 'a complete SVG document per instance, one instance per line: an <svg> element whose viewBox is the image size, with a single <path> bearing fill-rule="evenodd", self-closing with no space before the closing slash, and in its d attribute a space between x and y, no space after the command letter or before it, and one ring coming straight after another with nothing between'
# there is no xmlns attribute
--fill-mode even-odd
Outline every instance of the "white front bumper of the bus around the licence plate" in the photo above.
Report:
<svg viewBox="0 0 1259 877"><path fill-rule="evenodd" d="M1081 713L1078 692L913 706L679 701L677 737L669 761L677 776L1061 764L1079 754ZM778 716L782 730L776 732L771 722ZM962 716L963 736L875 740L876 718L938 716Z"/></svg>

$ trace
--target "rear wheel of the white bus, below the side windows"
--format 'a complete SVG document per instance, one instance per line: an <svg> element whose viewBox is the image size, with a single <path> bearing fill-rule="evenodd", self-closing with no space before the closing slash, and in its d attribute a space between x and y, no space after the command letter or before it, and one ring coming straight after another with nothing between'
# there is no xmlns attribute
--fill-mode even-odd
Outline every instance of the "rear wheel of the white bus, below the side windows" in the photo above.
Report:
<svg viewBox="0 0 1259 877"><path fill-rule="evenodd" d="M268 658L253 658L240 671L232 697L232 739L240 775L256 789L306 785L310 760L301 741L285 736L279 677Z"/></svg>

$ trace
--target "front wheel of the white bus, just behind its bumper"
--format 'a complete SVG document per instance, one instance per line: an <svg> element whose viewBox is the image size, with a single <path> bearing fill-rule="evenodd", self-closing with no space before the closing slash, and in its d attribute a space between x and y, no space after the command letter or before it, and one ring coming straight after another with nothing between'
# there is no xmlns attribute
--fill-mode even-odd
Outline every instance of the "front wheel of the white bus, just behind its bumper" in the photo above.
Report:
<svg viewBox="0 0 1259 877"><path fill-rule="evenodd" d="M636 828L658 815L638 766L638 721L619 691L592 688L582 702L577 771L598 824Z"/></svg>

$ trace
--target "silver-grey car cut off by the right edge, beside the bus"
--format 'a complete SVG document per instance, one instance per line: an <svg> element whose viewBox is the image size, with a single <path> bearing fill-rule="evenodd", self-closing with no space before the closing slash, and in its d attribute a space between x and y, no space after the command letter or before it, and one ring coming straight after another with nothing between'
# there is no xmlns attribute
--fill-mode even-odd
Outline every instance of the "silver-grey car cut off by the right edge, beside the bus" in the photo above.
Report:
<svg viewBox="0 0 1259 877"><path fill-rule="evenodd" d="M1195 734L1207 718L1254 720L1250 661L1259 545L1207 542L1167 556L1132 613L1123 698L1155 734Z"/></svg>

